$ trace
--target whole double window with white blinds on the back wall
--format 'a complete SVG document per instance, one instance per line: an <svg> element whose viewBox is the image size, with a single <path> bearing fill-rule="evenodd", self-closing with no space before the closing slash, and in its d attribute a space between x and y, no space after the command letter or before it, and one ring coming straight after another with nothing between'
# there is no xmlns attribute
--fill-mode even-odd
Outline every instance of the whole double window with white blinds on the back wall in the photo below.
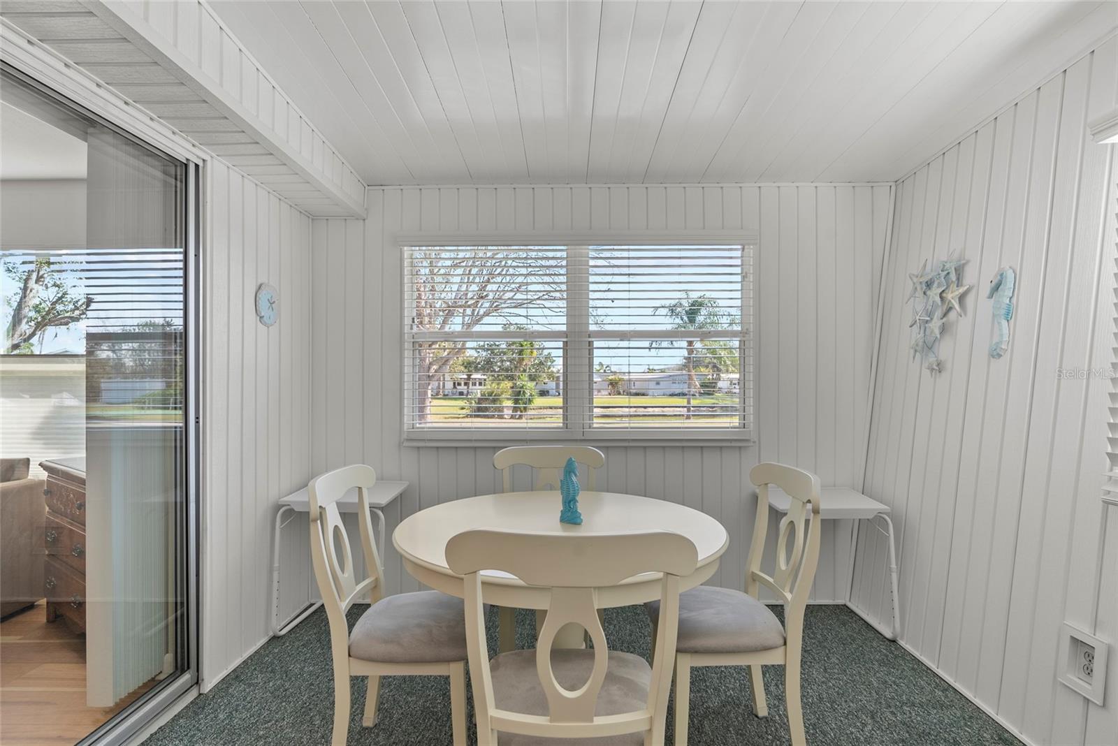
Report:
<svg viewBox="0 0 1118 746"><path fill-rule="evenodd" d="M752 437L751 246L404 252L409 439Z"/></svg>

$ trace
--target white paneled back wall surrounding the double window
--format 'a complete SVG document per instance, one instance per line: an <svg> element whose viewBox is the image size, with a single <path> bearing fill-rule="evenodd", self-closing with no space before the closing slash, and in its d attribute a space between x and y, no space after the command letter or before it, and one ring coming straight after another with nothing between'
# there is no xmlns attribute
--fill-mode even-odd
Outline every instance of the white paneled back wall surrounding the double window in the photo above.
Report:
<svg viewBox="0 0 1118 746"><path fill-rule="evenodd" d="M756 232L756 447L610 446L598 481L719 518L730 548L712 582L740 587L754 463L796 463L825 485L861 478L889 198L888 185L370 189L368 220L313 221L313 471L364 461L382 478L409 481L387 514L389 535L416 510L500 489L492 446L401 444L398 235ZM845 597L849 537L849 525L824 533L818 601ZM389 591L415 590L391 546L385 555Z"/></svg>

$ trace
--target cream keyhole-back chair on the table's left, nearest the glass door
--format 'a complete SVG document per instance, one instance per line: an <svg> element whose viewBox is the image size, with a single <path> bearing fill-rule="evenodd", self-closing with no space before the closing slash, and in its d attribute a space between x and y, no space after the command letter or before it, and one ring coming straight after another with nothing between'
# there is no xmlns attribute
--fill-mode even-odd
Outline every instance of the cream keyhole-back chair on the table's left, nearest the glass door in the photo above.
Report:
<svg viewBox="0 0 1118 746"><path fill-rule="evenodd" d="M383 595L383 568L373 542L369 488L372 467L354 465L315 477L309 486L311 561L322 605L330 623L334 664L332 746L343 746L349 733L350 677L369 677L362 725L377 721L382 676L448 676L454 746L466 745L466 627L461 600L437 591ZM358 583L349 536L337 501L357 488L358 525L369 576ZM350 632L345 612L369 594L371 605Z"/></svg>

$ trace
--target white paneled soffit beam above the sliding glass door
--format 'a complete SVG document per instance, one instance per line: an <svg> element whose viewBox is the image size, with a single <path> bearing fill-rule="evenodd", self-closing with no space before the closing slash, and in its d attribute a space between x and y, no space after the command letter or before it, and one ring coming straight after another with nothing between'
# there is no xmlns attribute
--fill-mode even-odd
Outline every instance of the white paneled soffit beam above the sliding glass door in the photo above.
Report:
<svg viewBox="0 0 1118 746"><path fill-rule="evenodd" d="M315 214L364 185L201 1L4 3L6 20Z"/></svg>

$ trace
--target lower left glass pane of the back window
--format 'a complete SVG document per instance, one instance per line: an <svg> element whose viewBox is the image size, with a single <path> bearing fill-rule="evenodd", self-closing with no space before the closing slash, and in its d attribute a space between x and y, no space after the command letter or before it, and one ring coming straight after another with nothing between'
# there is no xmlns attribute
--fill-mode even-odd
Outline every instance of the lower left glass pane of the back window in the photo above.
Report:
<svg viewBox="0 0 1118 746"><path fill-rule="evenodd" d="M408 400L415 402L408 427L561 427L562 358L558 339L418 343L413 369L442 372L406 382Z"/></svg>

